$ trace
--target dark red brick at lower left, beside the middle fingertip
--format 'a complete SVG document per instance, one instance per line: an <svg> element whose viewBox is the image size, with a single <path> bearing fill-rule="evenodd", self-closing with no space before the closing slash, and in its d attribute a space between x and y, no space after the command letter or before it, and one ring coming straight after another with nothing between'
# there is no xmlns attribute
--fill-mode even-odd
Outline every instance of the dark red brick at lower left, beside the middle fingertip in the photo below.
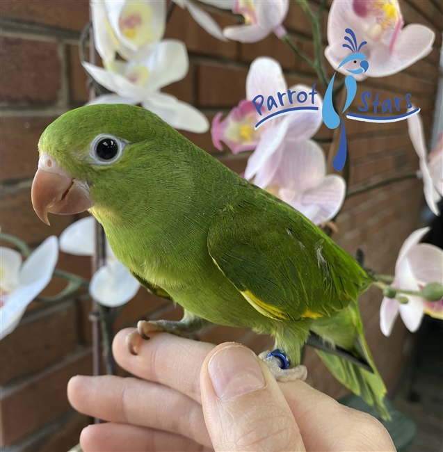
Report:
<svg viewBox="0 0 443 452"><path fill-rule="evenodd" d="M66 385L77 374L91 375L90 353L79 353L29 382L1 394L2 446L11 444L70 410Z"/></svg>

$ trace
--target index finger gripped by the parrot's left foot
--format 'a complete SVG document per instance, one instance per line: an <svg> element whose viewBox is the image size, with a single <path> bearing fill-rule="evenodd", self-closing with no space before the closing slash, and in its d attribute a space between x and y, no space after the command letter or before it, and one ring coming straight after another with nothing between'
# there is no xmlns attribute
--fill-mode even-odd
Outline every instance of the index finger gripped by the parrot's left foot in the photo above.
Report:
<svg viewBox="0 0 443 452"><path fill-rule="evenodd" d="M126 337L132 331L126 328L115 335L115 361L135 376L177 389L201 403L200 368L215 345L163 332L152 333L149 341L141 341L138 355L131 355Z"/></svg>

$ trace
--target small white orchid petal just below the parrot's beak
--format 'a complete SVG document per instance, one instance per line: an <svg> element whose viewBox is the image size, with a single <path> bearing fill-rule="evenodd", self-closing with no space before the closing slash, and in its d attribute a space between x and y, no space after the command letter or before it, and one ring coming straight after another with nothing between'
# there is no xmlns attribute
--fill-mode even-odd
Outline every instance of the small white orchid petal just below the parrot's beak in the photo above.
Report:
<svg viewBox="0 0 443 452"><path fill-rule="evenodd" d="M72 223L60 235L60 249L70 255L92 256L95 250L95 218L87 216Z"/></svg>

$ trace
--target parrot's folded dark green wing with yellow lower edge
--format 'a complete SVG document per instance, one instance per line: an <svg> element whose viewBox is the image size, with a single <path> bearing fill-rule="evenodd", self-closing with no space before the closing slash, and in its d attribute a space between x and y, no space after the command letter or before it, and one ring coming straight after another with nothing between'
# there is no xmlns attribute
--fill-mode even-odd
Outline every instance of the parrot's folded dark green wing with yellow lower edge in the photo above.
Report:
<svg viewBox="0 0 443 452"><path fill-rule="evenodd" d="M266 192L227 205L209 228L214 263L250 305L280 319L330 316L365 273L305 216Z"/></svg>

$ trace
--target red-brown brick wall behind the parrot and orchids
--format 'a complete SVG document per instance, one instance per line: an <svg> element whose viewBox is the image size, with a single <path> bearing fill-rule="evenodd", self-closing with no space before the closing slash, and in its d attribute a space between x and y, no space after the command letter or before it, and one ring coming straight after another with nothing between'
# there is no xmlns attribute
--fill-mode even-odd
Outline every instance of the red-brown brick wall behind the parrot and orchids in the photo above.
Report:
<svg viewBox="0 0 443 452"><path fill-rule="evenodd" d="M396 93L411 92L414 102L421 106L428 139L439 76L442 6L433 0L404 0L401 8L407 24L425 24L437 33L433 51L401 74L369 79L360 83L359 89L377 88L380 97L391 98ZM38 245L76 220L74 216L53 216L51 227L44 225L33 212L30 188L40 134L58 115L87 100L77 40L88 22L88 3L3 0L1 16L1 228L30 245ZM221 26L236 22L229 12L214 17ZM326 14L322 21L324 36L325 25ZM285 26L300 48L312 54L312 33L295 3L291 3ZM289 84L317 83L319 87L312 69L273 35L255 44L220 42L200 29L186 10L176 8L166 37L186 43L190 69L184 80L165 91L198 106L209 120L218 111L227 113L244 97L248 66L260 55L279 60ZM324 90L320 92L324 94ZM378 126L349 121L347 129L351 189L418 168L405 122ZM248 152L236 156L218 152L209 132L185 136L229 168L244 170ZM316 138L326 152L335 145L335 136L325 127ZM392 273L401 244L419 225L422 204L421 181L411 179L357 195L345 202L337 219L339 232L333 238L351 253L362 248L369 266ZM58 268L90 276L88 258L61 253ZM54 294L63 284L54 280L45 293ZM382 377L392 389L407 357L403 350L408 350L405 344L410 335L398 321L391 337L382 336L378 326L381 298L380 291L365 293L362 316ZM33 302L17 330L0 342L1 445L14 444L15 450L64 451L78 442L79 432L89 419L70 409L65 388L70 376L91 373L89 309L88 299L67 300L56 306ZM179 318L180 309L140 290L115 327L134 325L148 316ZM217 343L238 340L257 352L271 346L268 337L226 327L217 327L202 339ZM307 350L305 363L309 382L315 387L336 397L346 394L312 350Z"/></svg>

